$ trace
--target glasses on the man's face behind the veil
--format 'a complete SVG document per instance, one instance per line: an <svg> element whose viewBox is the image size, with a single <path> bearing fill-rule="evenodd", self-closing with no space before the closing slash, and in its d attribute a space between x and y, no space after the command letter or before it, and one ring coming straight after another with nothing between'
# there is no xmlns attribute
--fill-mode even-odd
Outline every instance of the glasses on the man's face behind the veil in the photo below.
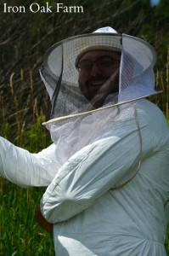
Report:
<svg viewBox="0 0 169 256"><path fill-rule="evenodd" d="M92 69L93 64L96 64L96 66L100 69L111 67L116 64L120 64L120 59L114 59L109 56L102 56L99 59L95 61L90 61L90 60L84 60L80 61L77 64L77 68L79 71L89 71Z"/></svg>

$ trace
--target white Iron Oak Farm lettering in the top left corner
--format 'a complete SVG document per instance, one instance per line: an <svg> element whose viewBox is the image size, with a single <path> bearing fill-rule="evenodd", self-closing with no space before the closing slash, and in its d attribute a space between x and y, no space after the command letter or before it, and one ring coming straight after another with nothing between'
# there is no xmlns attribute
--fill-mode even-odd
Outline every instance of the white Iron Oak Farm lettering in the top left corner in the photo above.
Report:
<svg viewBox="0 0 169 256"><path fill-rule="evenodd" d="M56 3L55 6L49 5L47 2L45 5L40 5L39 3L31 3L29 6L29 10L32 13L83 13L82 6L66 6L63 3ZM24 5L20 6L11 6L8 3L3 3L3 13L25 13L26 8Z"/></svg>

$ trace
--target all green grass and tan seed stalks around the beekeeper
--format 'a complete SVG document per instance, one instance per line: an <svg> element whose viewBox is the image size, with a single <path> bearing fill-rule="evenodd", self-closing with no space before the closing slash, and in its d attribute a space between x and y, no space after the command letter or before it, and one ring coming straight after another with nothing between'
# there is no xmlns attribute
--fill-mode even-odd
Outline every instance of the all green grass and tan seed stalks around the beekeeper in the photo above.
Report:
<svg viewBox="0 0 169 256"><path fill-rule="evenodd" d="M168 55L169 56L169 55ZM169 99L169 75L168 64L166 75L156 72L156 87L164 90L161 96L155 96L153 101L159 105L166 115L169 124L168 99ZM43 97L43 107L38 105L34 96L34 82L31 70L29 71L30 95L26 98L22 94L16 94L14 88L14 74L10 77L10 91L13 99L14 114L7 116L5 102L0 96L2 106L0 131L6 138L31 152L37 152L48 147L51 143L48 132L42 127L45 121L48 103ZM165 77L165 78L164 78ZM24 83L23 70L20 71L18 86ZM160 86L161 84L161 86ZM161 88L162 87L162 88ZM30 119L28 114L31 109L31 125L26 124ZM39 203L44 188L20 188L0 177L0 255L26 256L26 255L54 255L53 237L36 223L34 218L35 207ZM169 255L169 227L166 234L166 252Z"/></svg>

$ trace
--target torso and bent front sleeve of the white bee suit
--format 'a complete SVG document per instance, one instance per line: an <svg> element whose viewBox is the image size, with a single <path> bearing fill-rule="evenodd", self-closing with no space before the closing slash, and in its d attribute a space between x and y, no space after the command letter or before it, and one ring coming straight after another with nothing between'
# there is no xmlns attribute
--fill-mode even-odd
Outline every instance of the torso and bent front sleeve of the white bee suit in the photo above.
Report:
<svg viewBox="0 0 169 256"><path fill-rule="evenodd" d="M145 100L122 109L102 136L60 167L42 197L56 255L166 255L168 167L161 111Z"/></svg>

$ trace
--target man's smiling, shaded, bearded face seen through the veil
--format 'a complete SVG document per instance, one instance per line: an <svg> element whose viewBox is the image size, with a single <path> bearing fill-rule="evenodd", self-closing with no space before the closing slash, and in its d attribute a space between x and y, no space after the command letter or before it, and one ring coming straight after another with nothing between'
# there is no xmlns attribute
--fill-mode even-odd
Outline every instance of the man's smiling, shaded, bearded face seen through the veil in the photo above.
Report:
<svg viewBox="0 0 169 256"><path fill-rule="evenodd" d="M90 50L82 55L77 67L79 68L79 87L89 101L100 92L102 86L104 99L110 93L119 90L119 67L121 54L108 50ZM110 77L110 83L103 85Z"/></svg>

